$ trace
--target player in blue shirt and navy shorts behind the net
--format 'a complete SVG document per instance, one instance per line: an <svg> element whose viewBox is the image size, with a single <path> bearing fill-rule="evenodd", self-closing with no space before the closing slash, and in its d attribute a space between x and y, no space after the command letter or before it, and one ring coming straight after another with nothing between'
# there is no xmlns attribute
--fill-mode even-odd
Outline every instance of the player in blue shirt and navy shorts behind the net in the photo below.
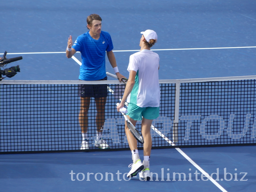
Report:
<svg viewBox="0 0 256 192"><path fill-rule="evenodd" d="M118 71L115 55L113 53L113 44L108 32L101 31L101 18L97 14L91 14L87 17L87 28L89 31L77 37L73 44L72 36L68 38L66 55L71 58L77 51L81 52L82 65L80 67L79 80L96 81L107 80L105 56L107 52L108 60L121 81L125 78ZM89 149L88 143L88 110L91 97L94 98L97 115L97 135L95 146L101 149L109 148L108 143L103 140L102 130L105 122L105 104L108 96L107 84L98 85L79 85L79 96L81 97L81 108L79 114L79 123L82 131L81 149Z"/></svg>

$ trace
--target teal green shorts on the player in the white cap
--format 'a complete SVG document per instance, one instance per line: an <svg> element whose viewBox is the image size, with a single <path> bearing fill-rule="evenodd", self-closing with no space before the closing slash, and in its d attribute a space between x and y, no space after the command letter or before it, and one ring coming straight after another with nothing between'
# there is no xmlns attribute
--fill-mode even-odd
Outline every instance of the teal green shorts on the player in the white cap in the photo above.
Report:
<svg viewBox="0 0 256 192"><path fill-rule="evenodd" d="M133 120L140 121L142 116L145 119L156 119L159 116L159 107L139 107L133 103L128 104L128 113Z"/></svg>

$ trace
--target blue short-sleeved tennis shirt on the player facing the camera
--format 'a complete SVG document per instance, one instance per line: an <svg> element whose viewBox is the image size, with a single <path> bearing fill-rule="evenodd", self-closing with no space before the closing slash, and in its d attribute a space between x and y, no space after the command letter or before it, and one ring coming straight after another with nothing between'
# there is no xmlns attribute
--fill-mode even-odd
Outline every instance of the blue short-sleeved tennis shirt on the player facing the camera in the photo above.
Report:
<svg viewBox="0 0 256 192"><path fill-rule="evenodd" d="M106 51L109 52L114 48L108 32L101 31L100 38L95 40L88 31L77 37L72 48L81 52L82 65L79 79L96 81L106 76Z"/></svg>

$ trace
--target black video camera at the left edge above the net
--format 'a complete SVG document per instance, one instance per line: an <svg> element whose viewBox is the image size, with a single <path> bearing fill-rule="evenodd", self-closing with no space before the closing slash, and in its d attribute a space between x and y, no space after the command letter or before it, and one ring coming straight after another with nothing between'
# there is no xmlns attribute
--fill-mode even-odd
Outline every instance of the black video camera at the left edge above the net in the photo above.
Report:
<svg viewBox="0 0 256 192"><path fill-rule="evenodd" d="M5 51L3 57L0 60L0 67L4 67L8 63L11 63L13 61L18 61L18 60L22 59L22 57L14 57L14 58L7 59L5 57L6 54L7 54L7 52ZM2 77L2 75L11 78L11 77L15 76L17 74L17 72L20 72L19 65L13 66L13 67L10 67L10 68L4 69L4 70L0 69L0 81L2 81L2 79L5 78L5 77Z"/></svg>

